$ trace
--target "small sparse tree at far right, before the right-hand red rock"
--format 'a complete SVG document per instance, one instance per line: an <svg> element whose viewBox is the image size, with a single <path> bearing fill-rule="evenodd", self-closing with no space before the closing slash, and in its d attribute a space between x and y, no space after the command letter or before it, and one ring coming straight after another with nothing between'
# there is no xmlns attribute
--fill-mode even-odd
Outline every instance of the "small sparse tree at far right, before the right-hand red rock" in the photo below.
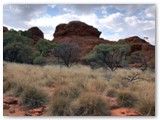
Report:
<svg viewBox="0 0 160 120"><path fill-rule="evenodd" d="M141 64L142 68L141 70L144 71L147 69L148 64L147 60L145 58L145 51L135 51L131 54L130 57L131 63L138 63Z"/></svg>

